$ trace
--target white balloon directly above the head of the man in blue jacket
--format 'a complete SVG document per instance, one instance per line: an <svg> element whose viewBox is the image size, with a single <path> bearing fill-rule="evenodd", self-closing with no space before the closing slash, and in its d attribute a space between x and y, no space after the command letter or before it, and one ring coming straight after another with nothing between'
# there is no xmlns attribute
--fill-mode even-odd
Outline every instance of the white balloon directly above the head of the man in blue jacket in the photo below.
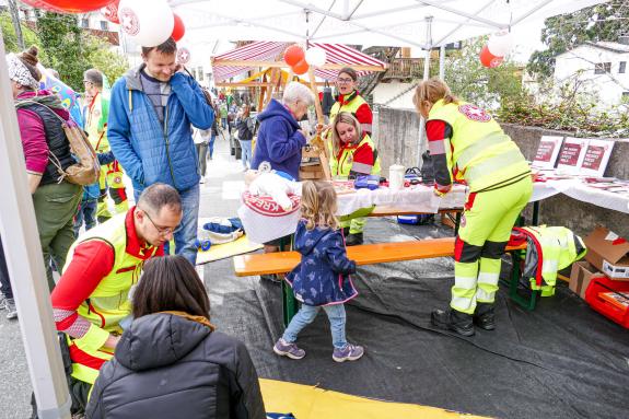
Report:
<svg viewBox="0 0 629 419"><path fill-rule="evenodd" d="M175 27L175 18L167 0L121 0L118 19L123 32L143 47L162 44Z"/></svg>

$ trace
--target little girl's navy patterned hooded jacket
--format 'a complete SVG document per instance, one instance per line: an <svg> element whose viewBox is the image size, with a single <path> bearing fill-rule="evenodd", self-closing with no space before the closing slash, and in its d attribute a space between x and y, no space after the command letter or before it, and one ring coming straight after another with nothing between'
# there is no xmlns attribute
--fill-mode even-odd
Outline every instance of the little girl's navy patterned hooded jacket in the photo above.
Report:
<svg viewBox="0 0 629 419"><path fill-rule="evenodd" d="M300 220L294 243L302 260L286 279L295 299L306 305L331 305L358 295L349 277L356 263L347 258L339 230L307 230L305 220Z"/></svg>

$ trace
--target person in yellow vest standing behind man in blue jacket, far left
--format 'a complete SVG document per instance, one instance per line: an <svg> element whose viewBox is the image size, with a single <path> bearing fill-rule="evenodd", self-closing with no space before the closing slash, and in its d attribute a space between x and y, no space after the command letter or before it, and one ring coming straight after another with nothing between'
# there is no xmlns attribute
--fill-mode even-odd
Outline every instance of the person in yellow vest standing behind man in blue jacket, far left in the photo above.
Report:
<svg viewBox="0 0 629 419"><path fill-rule="evenodd" d="M96 153L109 152L109 141L107 140L107 118L109 115L108 92L104 91L104 74L96 69L90 69L83 73L83 84L85 93L92 95L92 102L88 104L85 115L85 131L90 142ZM100 223L112 218L107 208L107 189L109 197L114 201L116 213L126 212L129 209L127 191L123 183L123 170L117 160L101 166L98 177L101 194L96 208L96 217Z"/></svg>

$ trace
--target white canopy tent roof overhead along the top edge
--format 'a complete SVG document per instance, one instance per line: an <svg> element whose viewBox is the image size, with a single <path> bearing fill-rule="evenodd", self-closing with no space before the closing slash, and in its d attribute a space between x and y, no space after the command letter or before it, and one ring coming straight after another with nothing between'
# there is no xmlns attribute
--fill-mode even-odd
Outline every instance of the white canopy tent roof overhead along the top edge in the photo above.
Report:
<svg viewBox="0 0 629 419"><path fill-rule="evenodd" d="M170 0L205 39L339 43L430 49L531 25L604 0Z"/></svg>

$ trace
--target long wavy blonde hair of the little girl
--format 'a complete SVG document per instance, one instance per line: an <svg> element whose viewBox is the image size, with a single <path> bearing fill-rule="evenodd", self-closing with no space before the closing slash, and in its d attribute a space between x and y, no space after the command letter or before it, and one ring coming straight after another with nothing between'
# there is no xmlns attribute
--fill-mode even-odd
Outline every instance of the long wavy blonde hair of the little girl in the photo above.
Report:
<svg viewBox="0 0 629 419"><path fill-rule="evenodd" d="M307 230L313 230L315 226L337 230L339 226L335 216L336 190L329 182L305 181L302 185L301 210Z"/></svg>

